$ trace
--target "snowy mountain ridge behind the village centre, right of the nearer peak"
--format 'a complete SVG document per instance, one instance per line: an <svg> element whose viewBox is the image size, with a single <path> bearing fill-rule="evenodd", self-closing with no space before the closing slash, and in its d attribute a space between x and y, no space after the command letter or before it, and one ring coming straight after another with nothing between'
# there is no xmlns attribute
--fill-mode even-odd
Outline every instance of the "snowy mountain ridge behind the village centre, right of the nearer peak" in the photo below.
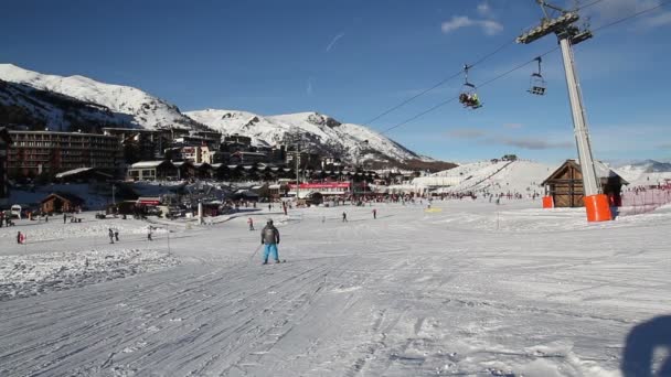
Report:
<svg viewBox="0 0 671 377"><path fill-rule="evenodd" d="M260 116L253 112L206 109L184 115L223 133L239 133L257 143L274 144L285 140L288 133L299 131L312 149L328 150L351 160L424 159L397 142L363 126L341 123L318 112L299 112L278 116ZM368 140L368 147L364 144Z"/></svg>

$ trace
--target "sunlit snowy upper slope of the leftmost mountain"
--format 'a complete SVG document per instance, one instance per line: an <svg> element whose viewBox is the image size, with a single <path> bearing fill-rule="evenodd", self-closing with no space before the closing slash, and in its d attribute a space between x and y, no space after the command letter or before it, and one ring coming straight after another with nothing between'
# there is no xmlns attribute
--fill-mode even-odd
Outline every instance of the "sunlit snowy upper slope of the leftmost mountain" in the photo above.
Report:
<svg viewBox="0 0 671 377"><path fill-rule="evenodd" d="M177 106L129 86L104 84L78 75L68 77L44 75L12 64L0 64L0 79L95 104L108 109L113 119L105 119L106 121L125 127L149 129L170 126L198 127L193 120L182 115ZM9 99L6 98L3 104L8 105L8 101ZM9 103L9 105L23 104ZM31 111L33 108L29 107L28 110ZM50 109L45 112L50 112ZM55 125L62 123L63 115L58 111L51 112L47 125L54 128Z"/></svg>

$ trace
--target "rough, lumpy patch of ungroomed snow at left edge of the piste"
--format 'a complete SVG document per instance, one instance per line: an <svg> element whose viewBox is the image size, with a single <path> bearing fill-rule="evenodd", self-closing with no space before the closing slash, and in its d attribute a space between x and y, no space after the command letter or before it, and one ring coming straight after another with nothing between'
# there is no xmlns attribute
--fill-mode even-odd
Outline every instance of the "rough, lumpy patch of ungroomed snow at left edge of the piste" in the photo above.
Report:
<svg viewBox="0 0 671 377"><path fill-rule="evenodd" d="M0 301L125 278L178 263L164 252L139 249L0 257Z"/></svg>

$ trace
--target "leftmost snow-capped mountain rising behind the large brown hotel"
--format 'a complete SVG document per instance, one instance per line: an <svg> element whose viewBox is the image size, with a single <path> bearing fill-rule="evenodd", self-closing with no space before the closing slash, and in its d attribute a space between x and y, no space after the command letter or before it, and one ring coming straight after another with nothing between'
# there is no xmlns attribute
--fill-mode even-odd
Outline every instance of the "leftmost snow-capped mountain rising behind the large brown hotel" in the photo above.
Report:
<svg viewBox="0 0 671 377"><path fill-rule="evenodd" d="M44 101L40 98L32 97L34 91L29 88L60 94L64 98L70 97L71 100L76 99L98 107L99 112L106 115L96 115L93 118L99 117L107 123L147 129L198 128L200 126L182 115L177 106L129 86L104 84L77 75L68 77L44 75L12 64L0 64L0 79L20 84L23 89L19 90L22 91L21 95L15 94L15 88L6 90L0 96L0 105L23 108L28 112L38 112L45 118L46 127L51 129L58 129L62 125L67 129L70 125L75 123L65 119L70 109L53 103L51 106L44 106Z"/></svg>

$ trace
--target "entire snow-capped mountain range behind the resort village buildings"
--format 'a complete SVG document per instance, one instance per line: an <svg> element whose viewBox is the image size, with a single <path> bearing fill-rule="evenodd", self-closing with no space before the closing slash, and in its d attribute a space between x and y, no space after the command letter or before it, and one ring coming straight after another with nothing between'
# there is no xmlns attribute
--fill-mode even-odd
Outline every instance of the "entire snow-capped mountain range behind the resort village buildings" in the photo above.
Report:
<svg viewBox="0 0 671 377"><path fill-rule="evenodd" d="M209 109L182 114L177 106L134 87L84 76L44 75L12 64L0 64L0 121L64 131L110 126L212 128L249 136L260 146L286 142L290 133L300 133L303 149L329 152L349 161L436 162L366 127L342 123L317 112L264 117Z"/></svg>

